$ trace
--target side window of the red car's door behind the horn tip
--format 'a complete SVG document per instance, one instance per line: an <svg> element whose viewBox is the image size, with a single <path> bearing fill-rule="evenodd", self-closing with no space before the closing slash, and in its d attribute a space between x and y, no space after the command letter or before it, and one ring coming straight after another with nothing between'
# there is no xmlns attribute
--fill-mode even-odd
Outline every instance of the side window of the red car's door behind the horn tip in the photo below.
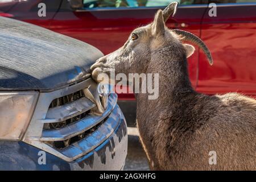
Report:
<svg viewBox="0 0 256 182"><path fill-rule="evenodd" d="M157 7L167 6L171 2L178 1L180 5L193 5L207 3L206 0L84 0L84 7L93 9L96 7Z"/></svg>

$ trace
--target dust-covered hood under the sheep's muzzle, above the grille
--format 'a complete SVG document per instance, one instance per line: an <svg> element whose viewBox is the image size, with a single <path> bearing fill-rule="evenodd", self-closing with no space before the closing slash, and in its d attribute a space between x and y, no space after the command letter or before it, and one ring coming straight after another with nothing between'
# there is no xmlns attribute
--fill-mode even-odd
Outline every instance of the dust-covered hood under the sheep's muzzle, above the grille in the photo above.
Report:
<svg viewBox="0 0 256 182"><path fill-rule="evenodd" d="M102 53L80 40L0 17L0 90L53 90L80 80Z"/></svg>

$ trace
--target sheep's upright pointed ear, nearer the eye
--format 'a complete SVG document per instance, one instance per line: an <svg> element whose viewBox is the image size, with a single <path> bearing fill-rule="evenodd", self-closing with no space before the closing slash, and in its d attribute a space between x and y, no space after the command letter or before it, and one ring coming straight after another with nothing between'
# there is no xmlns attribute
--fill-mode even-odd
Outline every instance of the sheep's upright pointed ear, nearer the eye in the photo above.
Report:
<svg viewBox="0 0 256 182"><path fill-rule="evenodd" d="M163 34L164 28L165 24L163 20L163 12L162 10L158 10L158 13L156 13L154 22L152 24L152 35Z"/></svg>

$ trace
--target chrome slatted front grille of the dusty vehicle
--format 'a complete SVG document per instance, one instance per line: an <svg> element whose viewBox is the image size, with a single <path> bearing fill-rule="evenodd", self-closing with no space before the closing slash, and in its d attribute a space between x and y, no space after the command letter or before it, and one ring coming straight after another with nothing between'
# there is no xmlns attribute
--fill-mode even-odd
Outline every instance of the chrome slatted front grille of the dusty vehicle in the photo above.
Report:
<svg viewBox="0 0 256 182"><path fill-rule="evenodd" d="M96 85L89 79L70 88L40 94L24 141L67 161L104 142L118 125L119 113L114 109L117 95L109 94L105 112L94 115L97 106L83 91L93 84Z"/></svg>

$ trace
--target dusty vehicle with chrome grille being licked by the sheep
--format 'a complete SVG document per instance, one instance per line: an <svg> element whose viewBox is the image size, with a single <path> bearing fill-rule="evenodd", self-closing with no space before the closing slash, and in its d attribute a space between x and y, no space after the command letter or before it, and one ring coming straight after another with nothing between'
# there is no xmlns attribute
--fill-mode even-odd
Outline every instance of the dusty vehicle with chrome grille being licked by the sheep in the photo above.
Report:
<svg viewBox="0 0 256 182"><path fill-rule="evenodd" d="M90 77L102 53L9 18L0 42L0 169L122 169L125 118Z"/></svg>

